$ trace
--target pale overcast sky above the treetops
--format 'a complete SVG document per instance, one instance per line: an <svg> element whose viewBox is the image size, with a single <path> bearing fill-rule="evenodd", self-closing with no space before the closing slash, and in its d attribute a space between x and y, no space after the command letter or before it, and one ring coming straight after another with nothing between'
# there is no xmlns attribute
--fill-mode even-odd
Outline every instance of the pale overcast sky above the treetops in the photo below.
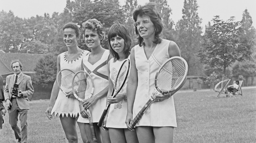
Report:
<svg viewBox="0 0 256 143"><path fill-rule="evenodd" d="M144 5L149 0L137 0L139 5ZM119 0L120 5L125 0ZM167 0L172 9L171 19L175 24L182 18L184 0ZM214 16L219 15L224 21L235 16L236 21L242 20L243 11L247 8L256 27L256 0L197 0L198 15L202 19L201 26L205 27ZM15 16L30 18L32 16L43 16L44 13L63 12L66 7L66 0L0 0L0 10L8 12L11 10Z"/></svg>

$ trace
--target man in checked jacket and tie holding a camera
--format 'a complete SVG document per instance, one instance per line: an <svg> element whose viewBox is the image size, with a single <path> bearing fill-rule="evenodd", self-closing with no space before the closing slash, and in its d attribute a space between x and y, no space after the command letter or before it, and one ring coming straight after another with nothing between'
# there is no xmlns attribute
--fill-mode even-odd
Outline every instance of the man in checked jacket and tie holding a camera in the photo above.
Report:
<svg viewBox="0 0 256 143"><path fill-rule="evenodd" d="M29 108L28 96L34 92L31 77L22 73L22 64L19 60L11 62L11 68L14 74L6 77L4 96L6 106L8 107L9 123L18 143L26 143L28 138L27 132L27 115ZM18 93L13 94L14 84L18 85ZM18 127L18 115L20 115L21 130Z"/></svg>

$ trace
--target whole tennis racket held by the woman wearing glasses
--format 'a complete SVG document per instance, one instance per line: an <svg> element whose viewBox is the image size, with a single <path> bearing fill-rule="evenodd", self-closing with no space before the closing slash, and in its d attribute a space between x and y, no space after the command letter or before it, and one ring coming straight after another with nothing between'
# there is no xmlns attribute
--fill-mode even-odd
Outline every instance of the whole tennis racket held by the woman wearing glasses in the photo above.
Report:
<svg viewBox="0 0 256 143"><path fill-rule="evenodd" d="M185 84L187 72L188 65L182 57L174 56L169 58L160 66L156 73L156 90L162 94L174 94ZM136 117L130 122L128 128L134 128L152 101L153 99L151 98L148 100Z"/></svg>

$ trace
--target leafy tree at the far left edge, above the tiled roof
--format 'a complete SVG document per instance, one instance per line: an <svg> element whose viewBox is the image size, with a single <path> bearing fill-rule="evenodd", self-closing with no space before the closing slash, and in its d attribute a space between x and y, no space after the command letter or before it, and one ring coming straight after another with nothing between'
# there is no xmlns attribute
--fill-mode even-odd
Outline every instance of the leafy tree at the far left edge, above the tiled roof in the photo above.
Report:
<svg viewBox="0 0 256 143"><path fill-rule="evenodd" d="M0 12L0 49L18 53L21 44L30 38L30 30L23 19L15 17L12 11Z"/></svg>

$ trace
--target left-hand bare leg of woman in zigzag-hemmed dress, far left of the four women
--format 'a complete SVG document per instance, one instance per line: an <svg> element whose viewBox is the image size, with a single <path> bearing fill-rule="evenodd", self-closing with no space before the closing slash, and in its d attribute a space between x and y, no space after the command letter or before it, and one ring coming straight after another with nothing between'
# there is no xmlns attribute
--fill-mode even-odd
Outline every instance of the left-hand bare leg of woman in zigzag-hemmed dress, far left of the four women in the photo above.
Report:
<svg viewBox="0 0 256 143"><path fill-rule="evenodd" d="M65 132L65 135L68 139L69 143L77 143L78 142L78 137L76 133L76 128L75 128L75 122L76 119L72 118L70 115L68 117L60 115L59 117L62 128Z"/></svg>

